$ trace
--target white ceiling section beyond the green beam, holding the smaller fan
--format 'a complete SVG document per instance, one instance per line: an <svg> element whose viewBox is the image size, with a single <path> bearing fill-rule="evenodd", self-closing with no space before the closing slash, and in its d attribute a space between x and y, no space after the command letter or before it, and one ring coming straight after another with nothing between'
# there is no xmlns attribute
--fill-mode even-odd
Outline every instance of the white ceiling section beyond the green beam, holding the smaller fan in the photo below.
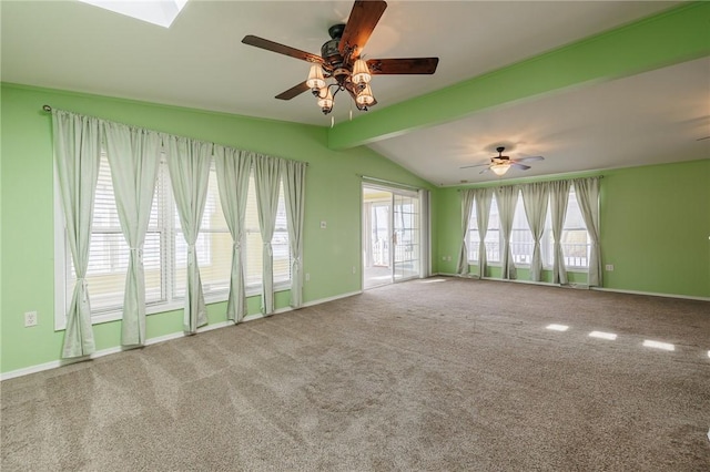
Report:
<svg viewBox="0 0 710 472"><path fill-rule="evenodd" d="M698 100L699 96L706 100ZM504 145L513 158L542 155L506 177L710 157L710 58L477 113L371 147L433 184L496 179L486 167ZM709 183L710 185L710 183Z"/></svg>

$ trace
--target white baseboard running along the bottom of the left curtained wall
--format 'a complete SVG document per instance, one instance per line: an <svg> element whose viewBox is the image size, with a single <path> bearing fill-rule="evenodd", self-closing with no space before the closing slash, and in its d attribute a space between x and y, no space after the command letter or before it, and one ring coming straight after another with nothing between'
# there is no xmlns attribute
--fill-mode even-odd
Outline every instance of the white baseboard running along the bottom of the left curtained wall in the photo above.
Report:
<svg viewBox="0 0 710 472"><path fill-rule="evenodd" d="M322 298L320 300L312 300L312 301L308 301L306 304L303 304L303 307L312 307L312 306L315 306L315 305L321 305L321 304L325 304L327 301L333 301L333 300L337 300L337 299L341 299L341 298L347 298L347 297L352 297L354 295L359 295L359 294L362 294L362 290L351 291L348 294L342 294L342 295L337 295L335 297ZM288 312L288 311L293 311L293 308L283 307L283 308L278 308L277 310L275 310L274 315L285 314L285 312ZM262 318L265 318L265 316L263 314L247 315L242 319L242 322L253 321L255 319L262 319ZM205 332L205 331L211 331L213 329L225 328L227 326L234 326L234 324L232 321L227 320L227 321L215 322L215 324L212 324L212 325L206 325L206 326L203 326L202 328L197 328L197 334ZM170 340L173 340L173 339L183 338L185 336L191 336L191 335L185 335L182 331L171 332L170 335L158 336L155 338L146 339L145 340L145 346L156 345L159 342L170 341ZM41 371L44 371L44 370L57 369L58 367L69 366L69 365L77 363L77 362L83 362L83 361L91 360L91 359L97 359L97 358L100 358L100 357L103 357L103 356L109 356L109 355L113 355L113 353L118 353L118 352L122 352L122 351L129 351L129 350L139 349L139 348L140 348L140 346L134 346L134 347L131 347L131 346L129 346L129 347L115 346L115 347L112 347L112 348L98 350L98 351L93 352L91 356L78 357L78 358L73 358L73 359L53 360L51 362L44 362L44 363L39 363L37 366L30 366L30 367L26 367L26 368L22 368L22 369L11 370L9 372L0 373L0 381L14 379L17 377L29 376L30 373L37 373L37 372L41 372Z"/></svg>

